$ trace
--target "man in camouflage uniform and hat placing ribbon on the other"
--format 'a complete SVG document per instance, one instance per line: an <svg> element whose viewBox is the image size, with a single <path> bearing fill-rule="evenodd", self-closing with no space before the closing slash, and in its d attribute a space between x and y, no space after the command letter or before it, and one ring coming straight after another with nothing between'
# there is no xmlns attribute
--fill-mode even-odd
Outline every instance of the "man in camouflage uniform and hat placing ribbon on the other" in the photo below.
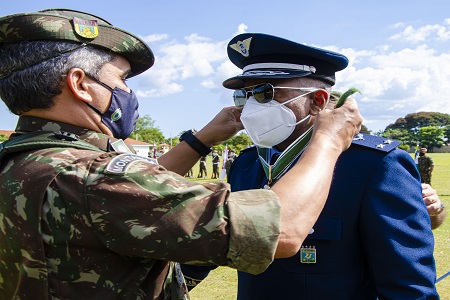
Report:
<svg viewBox="0 0 450 300"><path fill-rule="evenodd" d="M0 148L2 299L188 299L175 262L260 273L300 248L361 126L355 101L320 113L284 178L232 193L183 175L243 129L239 108L158 160L123 142L139 116L126 80L154 64L138 36L70 9L0 17L0 29L0 98L19 116Z"/></svg>

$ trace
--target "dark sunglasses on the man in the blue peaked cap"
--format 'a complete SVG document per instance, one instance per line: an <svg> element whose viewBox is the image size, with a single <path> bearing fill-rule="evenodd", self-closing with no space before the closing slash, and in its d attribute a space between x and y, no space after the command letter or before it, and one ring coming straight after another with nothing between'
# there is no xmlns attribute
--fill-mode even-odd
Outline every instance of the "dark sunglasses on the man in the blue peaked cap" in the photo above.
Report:
<svg viewBox="0 0 450 300"><path fill-rule="evenodd" d="M233 93L234 105L236 105L237 107L243 107L250 96L253 96L253 98L255 98L255 100L258 101L259 103L268 103L273 100L273 97L275 95L275 89L291 89L305 92L317 90L317 88L273 86L270 83L262 83L250 86L246 89L235 90Z"/></svg>

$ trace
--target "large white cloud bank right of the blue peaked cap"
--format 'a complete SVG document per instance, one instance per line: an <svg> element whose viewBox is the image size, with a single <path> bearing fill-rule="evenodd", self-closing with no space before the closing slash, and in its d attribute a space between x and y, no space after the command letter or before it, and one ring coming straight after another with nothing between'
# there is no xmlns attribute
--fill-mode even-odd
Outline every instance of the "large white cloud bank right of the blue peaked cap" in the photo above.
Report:
<svg viewBox="0 0 450 300"><path fill-rule="evenodd" d="M427 45L378 51L343 50L350 53L350 65L337 74L337 89L362 91L356 98L369 129L383 130L413 112L450 113L450 53L438 54Z"/></svg>

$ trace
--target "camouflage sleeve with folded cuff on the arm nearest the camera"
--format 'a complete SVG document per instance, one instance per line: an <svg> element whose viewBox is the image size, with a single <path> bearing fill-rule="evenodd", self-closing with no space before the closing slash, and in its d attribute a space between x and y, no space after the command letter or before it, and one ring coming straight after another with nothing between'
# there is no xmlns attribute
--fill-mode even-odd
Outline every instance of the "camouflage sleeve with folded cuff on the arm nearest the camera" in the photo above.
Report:
<svg viewBox="0 0 450 300"><path fill-rule="evenodd" d="M114 154L90 165L85 188L98 238L122 255L251 273L273 259L280 208L271 191L231 193L226 183L199 184L145 159L121 164Z"/></svg>

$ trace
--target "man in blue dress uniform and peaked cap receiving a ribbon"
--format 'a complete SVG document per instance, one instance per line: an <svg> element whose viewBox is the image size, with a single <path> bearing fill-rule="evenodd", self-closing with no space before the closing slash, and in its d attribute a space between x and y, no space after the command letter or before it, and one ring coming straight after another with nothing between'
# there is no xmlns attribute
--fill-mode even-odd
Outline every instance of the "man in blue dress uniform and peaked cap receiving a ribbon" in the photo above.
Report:
<svg viewBox="0 0 450 300"><path fill-rule="evenodd" d="M348 59L261 33L234 37L227 51L243 73L223 85L235 90L241 121L255 144L235 159L228 182L232 191L271 188L309 149L317 116L334 111L325 108L335 72ZM239 271L238 299L438 299L420 176L399 144L356 135L336 164L328 200L299 251L275 259L261 274ZM208 272L182 269L194 285Z"/></svg>

